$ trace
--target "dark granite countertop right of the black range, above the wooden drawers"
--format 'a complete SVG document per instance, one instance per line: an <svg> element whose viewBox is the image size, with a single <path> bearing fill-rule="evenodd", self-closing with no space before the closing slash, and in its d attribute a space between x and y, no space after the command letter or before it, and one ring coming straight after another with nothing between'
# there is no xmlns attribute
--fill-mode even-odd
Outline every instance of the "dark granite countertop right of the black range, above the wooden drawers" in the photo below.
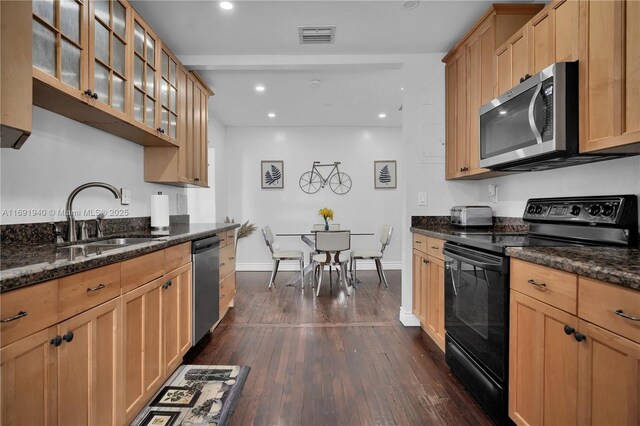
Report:
<svg viewBox="0 0 640 426"><path fill-rule="evenodd" d="M507 255L640 291L640 250L618 247L509 247Z"/></svg>

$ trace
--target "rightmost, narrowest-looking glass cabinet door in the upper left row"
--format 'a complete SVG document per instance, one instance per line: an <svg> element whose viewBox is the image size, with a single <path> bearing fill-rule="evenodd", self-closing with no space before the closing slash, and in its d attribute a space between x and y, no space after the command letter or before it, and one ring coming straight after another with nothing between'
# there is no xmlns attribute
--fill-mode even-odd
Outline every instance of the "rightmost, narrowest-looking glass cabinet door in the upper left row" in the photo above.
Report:
<svg viewBox="0 0 640 426"><path fill-rule="evenodd" d="M178 137L178 64L164 48L160 66L160 128L175 140Z"/></svg>

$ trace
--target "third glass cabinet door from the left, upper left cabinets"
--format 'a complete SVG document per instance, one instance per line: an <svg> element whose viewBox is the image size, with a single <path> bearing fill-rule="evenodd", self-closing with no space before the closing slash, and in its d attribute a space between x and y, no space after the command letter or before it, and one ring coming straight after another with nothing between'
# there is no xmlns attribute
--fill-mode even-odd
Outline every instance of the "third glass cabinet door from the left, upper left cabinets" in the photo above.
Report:
<svg viewBox="0 0 640 426"><path fill-rule="evenodd" d="M157 123L157 42L155 34L134 14L133 19L133 118L152 129Z"/></svg>

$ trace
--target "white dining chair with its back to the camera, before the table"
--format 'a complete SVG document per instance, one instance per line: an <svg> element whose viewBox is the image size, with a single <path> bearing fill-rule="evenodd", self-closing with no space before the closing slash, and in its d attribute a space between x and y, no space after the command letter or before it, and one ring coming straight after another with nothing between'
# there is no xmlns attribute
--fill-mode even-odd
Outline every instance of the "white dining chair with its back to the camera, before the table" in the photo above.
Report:
<svg viewBox="0 0 640 426"><path fill-rule="evenodd" d="M351 294L349 283L347 281L347 264L349 263L349 255L344 251L351 247L351 231L318 231L316 234L315 250L318 254L314 255L313 274L317 275L316 296L320 294L322 286L322 275L324 267L338 267L340 281L347 290L347 294ZM329 269L331 273L331 269Z"/></svg>

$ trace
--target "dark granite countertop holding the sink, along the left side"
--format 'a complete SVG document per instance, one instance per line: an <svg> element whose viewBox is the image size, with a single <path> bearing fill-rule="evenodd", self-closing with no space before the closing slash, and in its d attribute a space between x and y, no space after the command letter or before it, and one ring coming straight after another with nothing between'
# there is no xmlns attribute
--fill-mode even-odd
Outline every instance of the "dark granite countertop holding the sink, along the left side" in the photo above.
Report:
<svg viewBox="0 0 640 426"><path fill-rule="evenodd" d="M222 231L238 227L240 227L240 224L237 223L183 223L172 225L169 235L164 236L152 235L148 230L119 233L105 236L104 239L151 237L154 240L103 252L88 252L86 255L74 253L74 256L71 254L72 251L65 250L64 246L55 244L2 246L0 252L0 292L120 262L186 241L210 237ZM78 242L77 244L81 243Z"/></svg>

